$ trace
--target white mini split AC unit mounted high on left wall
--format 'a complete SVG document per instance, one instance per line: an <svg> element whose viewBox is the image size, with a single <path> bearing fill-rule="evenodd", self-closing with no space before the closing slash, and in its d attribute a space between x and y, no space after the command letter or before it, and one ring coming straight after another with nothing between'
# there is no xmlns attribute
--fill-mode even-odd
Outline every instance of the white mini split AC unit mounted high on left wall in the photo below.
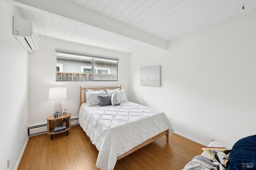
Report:
<svg viewBox="0 0 256 170"><path fill-rule="evenodd" d="M34 22L13 17L13 35L28 53L39 49L39 36Z"/></svg>

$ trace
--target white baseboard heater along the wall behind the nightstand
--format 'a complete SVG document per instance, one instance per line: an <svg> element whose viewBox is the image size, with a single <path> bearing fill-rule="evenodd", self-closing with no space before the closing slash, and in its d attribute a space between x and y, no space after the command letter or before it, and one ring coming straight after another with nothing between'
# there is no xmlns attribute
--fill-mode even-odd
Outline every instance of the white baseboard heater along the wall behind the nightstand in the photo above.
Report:
<svg viewBox="0 0 256 170"><path fill-rule="evenodd" d="M72 118L71 119L71 127L75 127L78 126L79 122L78 122L78 117L77 118ZM36 136L39 134L45 134L47 132L47 124L43 124L43 125L37 125L37 126L33 126L33 127L28 127L28 136Z"/></svg>

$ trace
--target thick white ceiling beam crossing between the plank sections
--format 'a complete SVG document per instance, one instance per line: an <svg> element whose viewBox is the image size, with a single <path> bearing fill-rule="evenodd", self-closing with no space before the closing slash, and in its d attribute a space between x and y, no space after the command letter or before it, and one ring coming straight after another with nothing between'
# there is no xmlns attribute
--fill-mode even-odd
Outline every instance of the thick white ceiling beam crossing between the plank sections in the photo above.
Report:
<svg viewBox="0 0 256 170"><path fill-rule="evenodd" d="M100 28L139 42L168 49L168 42L140 30L102 16L66 0L4 0L36 12L64 17L72 21Z"/></svg>

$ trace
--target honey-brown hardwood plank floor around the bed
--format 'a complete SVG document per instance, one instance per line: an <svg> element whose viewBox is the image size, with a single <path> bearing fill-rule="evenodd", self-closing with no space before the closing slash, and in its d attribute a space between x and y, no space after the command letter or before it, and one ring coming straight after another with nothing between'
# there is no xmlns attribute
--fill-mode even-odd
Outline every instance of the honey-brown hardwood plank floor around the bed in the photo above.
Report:
<svg viewBox="0 0 256 170"><path fill-rule="evenodd" d="M194 156L201 154L200 144L178 134L166 143L163 136L118 160L114 170L181 170ZM80 126L53 135L30 137L18 170L97 170L98 150Z"/></svg>

